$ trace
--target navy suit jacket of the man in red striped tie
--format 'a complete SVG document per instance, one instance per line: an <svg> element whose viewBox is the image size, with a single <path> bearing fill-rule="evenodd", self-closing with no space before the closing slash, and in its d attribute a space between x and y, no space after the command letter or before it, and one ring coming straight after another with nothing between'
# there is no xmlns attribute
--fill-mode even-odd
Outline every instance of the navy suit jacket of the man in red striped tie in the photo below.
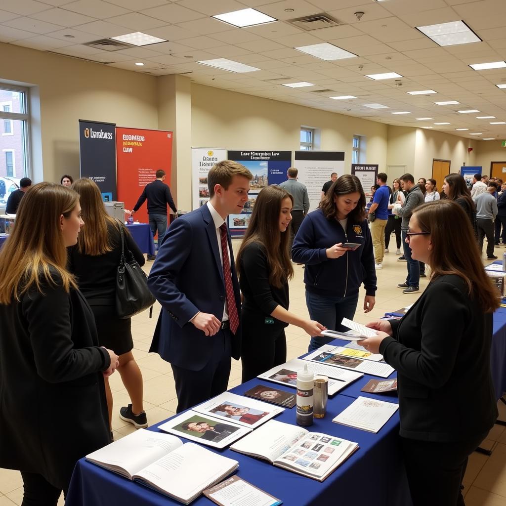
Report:
<svg viewBox="0 0 506 506"><path fill-rule="evenodd" d="M228 245L240 315L230 236ZM207 205L181 216L168 228L148 276L148 286L162 306L149 351L178 367L201 370L208 362L216 336L206 336L189 320L198 311L221 320L226 298L215 223ZM232 357L239 356L240 326L232 339Z"/></svg>

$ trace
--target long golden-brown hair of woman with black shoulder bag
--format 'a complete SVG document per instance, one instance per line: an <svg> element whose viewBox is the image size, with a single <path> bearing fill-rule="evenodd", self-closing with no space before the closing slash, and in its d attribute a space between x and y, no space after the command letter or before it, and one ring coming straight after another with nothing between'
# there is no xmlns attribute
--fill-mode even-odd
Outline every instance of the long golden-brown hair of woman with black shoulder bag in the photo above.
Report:
<svg viewBox="0 0 506 506"><path fill-rule="evenodd" d="M106 213L100 189L94 181L78 179L72 189L81 197L82 217L86 222L77 240L79 252L92 256L104 255L112 250L107 225L118 227L118 223Z"/></svg>

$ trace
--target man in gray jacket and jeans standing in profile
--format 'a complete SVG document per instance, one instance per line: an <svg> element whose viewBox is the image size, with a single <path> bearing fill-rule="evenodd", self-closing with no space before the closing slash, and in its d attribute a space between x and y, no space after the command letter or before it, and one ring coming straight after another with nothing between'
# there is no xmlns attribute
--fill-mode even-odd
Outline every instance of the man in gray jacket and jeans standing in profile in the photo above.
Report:
<svg viewBox="0 0 506 506"><path fill-rule="evenodd" d="M404 283L399 283L399 288L404 288L403 293L412 293L419 290L420 284L420 264L417 260L411 258L411 248L409 244L406 244L406 236L409 230L409 219L413 214L413 211L420 204L425 202L424 194L421 193L419 185L415 185L414 178L411 174L403 174L399 178L401 182L401 188L406 193L406 199L400 209L397 209L397 216L402 218L401 222L401 235L402 235L402 246L404 248L404 258L406 259L408 275Z"/></svg>

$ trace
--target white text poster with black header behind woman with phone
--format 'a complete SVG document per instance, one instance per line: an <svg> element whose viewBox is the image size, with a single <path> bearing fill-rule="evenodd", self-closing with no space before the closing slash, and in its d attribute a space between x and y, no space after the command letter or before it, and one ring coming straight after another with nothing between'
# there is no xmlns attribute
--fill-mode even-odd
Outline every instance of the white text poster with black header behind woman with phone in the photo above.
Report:
<svg viewBox="0 0 506 506"><path fill-rule="evenodd" d="M306 185L309 210L320 203L321 189L335 172L338 178L345 173L344 151L296 151L293 166L299 169L299 182Z"/></svg>

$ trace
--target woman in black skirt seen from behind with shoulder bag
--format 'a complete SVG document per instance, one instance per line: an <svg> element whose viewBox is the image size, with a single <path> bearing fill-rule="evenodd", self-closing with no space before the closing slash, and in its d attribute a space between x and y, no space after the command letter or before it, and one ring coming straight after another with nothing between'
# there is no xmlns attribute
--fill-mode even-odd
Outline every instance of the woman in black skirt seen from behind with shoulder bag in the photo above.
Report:
<svg viewBox="0 0 506 506"><path fill-rule="evenodd" d="M132 355L131 320L120 319L115 314L116 272L121 257L119 226L123 228L127 260L127 249L141 266L144 265L144 255L126 227L106 213L96 183L83 178L77 180L72 188L80 195L88 227L82 230L77 244L69 250L69 269L75 274L79 288L93 310L100 344L119 355L118 372L132 401L120 409L119 417L136 428L147 427L142 373ZM107 379L105 389L111 424L113 402Z"/></svg>

